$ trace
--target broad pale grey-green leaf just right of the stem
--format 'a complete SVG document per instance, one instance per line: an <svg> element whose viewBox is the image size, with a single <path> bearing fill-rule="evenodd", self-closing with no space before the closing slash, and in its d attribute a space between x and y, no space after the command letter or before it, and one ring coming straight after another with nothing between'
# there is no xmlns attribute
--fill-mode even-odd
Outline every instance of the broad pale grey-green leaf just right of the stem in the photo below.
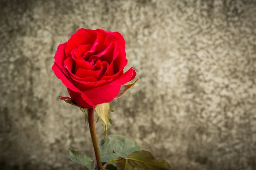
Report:
<svg viewBox="0 0 256 170"><path fill-rule="evenodd" d="M122 135L108 136L105 144L99 147L102 162L109 162L112 159L119 158L119 155L126 156L137 150L140 150L137 143ZM112 164L116 166L115 162Z"/></svg>

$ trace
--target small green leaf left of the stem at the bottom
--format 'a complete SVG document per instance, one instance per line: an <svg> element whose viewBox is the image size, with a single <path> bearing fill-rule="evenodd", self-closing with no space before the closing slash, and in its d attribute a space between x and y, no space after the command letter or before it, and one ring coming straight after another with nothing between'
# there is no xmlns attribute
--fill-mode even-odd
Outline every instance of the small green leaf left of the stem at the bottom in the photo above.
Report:
<svg viewBox="0 0 256 170"><path fill-rule="evenodd" d="M81 153L79 150L68 148L68 156L73 162L84 165L88 170L95 170L93 168L93 160Z"/></svg>

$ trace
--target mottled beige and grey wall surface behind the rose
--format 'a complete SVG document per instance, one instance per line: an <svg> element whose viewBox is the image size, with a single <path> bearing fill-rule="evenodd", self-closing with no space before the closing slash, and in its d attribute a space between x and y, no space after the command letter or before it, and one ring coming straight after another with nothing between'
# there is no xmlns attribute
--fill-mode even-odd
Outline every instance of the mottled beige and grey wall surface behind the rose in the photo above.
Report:
<svg viewBox="0 0 256 170"><path fill-rule="evenodd" d="M111 102L110 134L134 139L174 170L256 167L255 0L2 0L0 166L84 169L93 156L81 111L51 66L78 28L119 31L139 81ZM104 136L100 123L98 137Z"/></svg>

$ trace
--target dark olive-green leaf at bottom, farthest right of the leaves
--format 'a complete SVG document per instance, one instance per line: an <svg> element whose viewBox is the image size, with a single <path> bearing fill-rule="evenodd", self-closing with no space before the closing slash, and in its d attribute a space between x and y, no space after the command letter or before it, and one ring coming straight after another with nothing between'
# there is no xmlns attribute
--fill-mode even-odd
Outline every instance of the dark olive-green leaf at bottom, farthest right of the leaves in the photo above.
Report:
<svg viewBox="0 0 256 170"><path fill-rule="evenodd" d="M155 159L150 152L145 150L133 152L126 159L138 170L172 170L165 160Z"/></svg>

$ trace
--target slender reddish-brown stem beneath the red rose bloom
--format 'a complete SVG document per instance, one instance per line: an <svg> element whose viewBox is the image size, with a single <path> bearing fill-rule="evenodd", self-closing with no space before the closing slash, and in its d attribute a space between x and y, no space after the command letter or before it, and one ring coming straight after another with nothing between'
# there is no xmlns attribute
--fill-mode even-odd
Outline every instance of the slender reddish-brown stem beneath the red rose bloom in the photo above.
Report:
<svg viewBox="0 0 256 170"><path fill-rule="evenodd" d="M88 113L88 123L89 123L89 128L90 128L90 134L91 134L91 138L92 138L92 142L93 142L93 149L94 149L94 153L96 156L96 161L97 161L97 167L98 170L102 169L102 162L100 159L100 155L99 155L99 146L98 146L98 142L97 142L97 136L96 136L96 130L95 130L95 125L94 125L94 109L87 109L87 113Z"/></svg>

